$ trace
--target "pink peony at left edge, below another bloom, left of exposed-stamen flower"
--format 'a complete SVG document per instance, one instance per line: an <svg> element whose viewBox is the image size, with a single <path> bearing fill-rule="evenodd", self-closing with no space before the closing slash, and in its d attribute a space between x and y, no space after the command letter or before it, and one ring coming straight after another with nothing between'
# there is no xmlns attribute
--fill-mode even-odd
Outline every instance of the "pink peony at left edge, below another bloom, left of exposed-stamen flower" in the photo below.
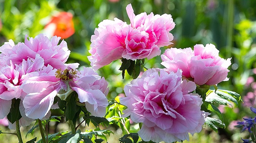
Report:
<svg viewBox="0 0 256 143"><path fill-rule="evenodd" d="M54 74L53 67L44 66L43 58L37 54L35 59L23 59L19 65L5 66L0 69L0 119L8 115L13 98L24 99L26 93L19 87L33 76Z"/></svg>

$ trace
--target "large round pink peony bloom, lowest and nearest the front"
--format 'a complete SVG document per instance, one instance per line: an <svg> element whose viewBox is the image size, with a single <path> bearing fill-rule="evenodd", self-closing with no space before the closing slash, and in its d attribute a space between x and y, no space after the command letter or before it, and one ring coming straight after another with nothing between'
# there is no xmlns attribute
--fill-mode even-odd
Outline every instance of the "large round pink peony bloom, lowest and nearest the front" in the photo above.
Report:
<svg viewBox="0 0 256 143"><path fill-rule="evenodd" d="M145 71L141 78L124 87L126 97L120 103L127 106L123 116L131 115L142 122L138 132L144 141L174 142L189 140L189 134L199 133L207 114L201 111L202 98L190 93L196 84L181 79L177 73L155 69Z"/></svg>

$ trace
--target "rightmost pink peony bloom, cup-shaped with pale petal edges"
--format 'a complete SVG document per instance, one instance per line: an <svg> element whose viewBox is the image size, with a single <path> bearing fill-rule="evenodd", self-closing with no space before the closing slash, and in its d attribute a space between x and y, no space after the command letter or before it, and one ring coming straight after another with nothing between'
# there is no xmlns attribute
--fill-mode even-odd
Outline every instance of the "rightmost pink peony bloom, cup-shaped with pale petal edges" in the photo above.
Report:
<svg viewBox="0 0 256 143"><path fill-rule="evenodd" d="M206 44L205 47L197 44L194 50L170 48L165 50L161 59L161 64L168 71L176 72L181 69L183 76L198 85L216 85L228 80L227 68L231 65L231 58L221 58L213 44Z"/></svg>

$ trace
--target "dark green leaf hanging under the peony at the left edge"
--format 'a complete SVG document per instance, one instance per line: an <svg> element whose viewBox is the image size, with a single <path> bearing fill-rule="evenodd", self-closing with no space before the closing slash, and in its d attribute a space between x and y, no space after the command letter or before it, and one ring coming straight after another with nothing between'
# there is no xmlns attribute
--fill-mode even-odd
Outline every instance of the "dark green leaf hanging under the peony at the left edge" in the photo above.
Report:
<svg viewBox="0 0 256 143"><path fill-rule="evenodd" d="M11 109L10 113L7 115L7 119L13 124L15 121L18 121L21 119L21 114L20 114L20 99L15 99L13 98L11 100Z"/></svg>

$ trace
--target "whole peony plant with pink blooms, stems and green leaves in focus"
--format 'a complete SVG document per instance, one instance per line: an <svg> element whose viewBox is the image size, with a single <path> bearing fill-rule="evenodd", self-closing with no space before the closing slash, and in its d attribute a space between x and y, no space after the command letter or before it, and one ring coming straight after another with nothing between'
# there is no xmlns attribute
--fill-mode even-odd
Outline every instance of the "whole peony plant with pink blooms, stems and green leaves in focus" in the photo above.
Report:
<svg viewBox="0 0 256 143"><path fill-rule="evenodd" d="M169 48L161 55L165 69L144 71L141 66L145 58L159 56L160 47L172 44L174 37L169 31L175 23L170 14L135 15L131 4L126 11L130 24L115 18L103 20L95 29L89 50L92 55L88 56L92 68L80 67L79 71L78 63L67 64L70 50L57 36L25 36L24 43L15 45L9 40L0 47L0 119L8 119L9 128L16 128L14 135L20 143L20 126L34 120L29 133L39 127L39 142L43 143L100 143L105 135L113 133L100 129L109 124L122 129L121 143L182 142L201 132L205 125L216 132L218 127L225 128L215 104L233 102L237 106L241 99L239 94L217 87L228 80L231 58L221 58L213 44L197 44L193 50ZM133 80L124 87L122 97L107 99L108 82L94 70L118 59L122 61L122 78L127 71ZM69 122L71 132L45 136L43 127L60 119L51 113L52 109L62 111L61 117ZM219 119L210 117L209 112ZM83 121L77 124L79 119ZM83 122L96 128L81 132L78 127ZM131 124L139 126L134 133Z"/></svg>

